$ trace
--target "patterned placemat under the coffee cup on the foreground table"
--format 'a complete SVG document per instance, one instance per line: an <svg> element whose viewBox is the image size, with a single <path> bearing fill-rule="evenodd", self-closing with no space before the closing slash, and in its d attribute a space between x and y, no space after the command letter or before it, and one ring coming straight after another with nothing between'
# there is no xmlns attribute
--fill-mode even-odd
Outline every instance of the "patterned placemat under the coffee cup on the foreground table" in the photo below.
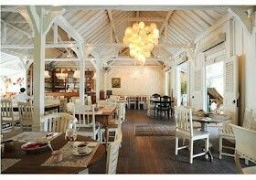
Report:
<svg viewBox="0 0 256 180"><path fill-rule="evenodd" d="M63 154L63 159L61 162L59 163L53 162L53 157L50 156L48 160L41 165L42 166L87 167L88 164L91 162L91 158L93 157L93 154L96 153L100 144L88 142L89 143L88 146L91 147L92 149L91 154L84 155L84 156L76 156L71 153L73 143L74 142L68 142L61 149L59 149Z"/></svg>

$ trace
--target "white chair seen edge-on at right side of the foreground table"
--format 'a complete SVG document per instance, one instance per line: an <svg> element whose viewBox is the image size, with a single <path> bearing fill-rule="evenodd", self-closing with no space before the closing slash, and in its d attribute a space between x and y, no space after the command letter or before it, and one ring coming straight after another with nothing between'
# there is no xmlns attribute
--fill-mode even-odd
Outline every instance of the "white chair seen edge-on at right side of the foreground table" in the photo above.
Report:
<svg viewBox="0 0 256 180"><path fill-rule="evenodd" d="M121 147L122 138L123 138L123 133L121 131L118 131L116 140L110 143L108 146L106 174L110 174L110 175L116 174L118 154L119 154L119 149Z"/></svg>

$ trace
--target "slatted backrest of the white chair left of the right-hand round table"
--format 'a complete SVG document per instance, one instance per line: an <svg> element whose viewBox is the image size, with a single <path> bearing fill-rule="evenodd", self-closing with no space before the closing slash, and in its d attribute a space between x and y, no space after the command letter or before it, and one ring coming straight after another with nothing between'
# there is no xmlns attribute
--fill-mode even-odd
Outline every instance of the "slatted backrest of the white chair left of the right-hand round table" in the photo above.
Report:
<svg viewBox="0 0 256 180"><path fill-rule="evenodd" d="M188 107L175 107L176 132L187 132L193 136L192 110Z"/></svg>

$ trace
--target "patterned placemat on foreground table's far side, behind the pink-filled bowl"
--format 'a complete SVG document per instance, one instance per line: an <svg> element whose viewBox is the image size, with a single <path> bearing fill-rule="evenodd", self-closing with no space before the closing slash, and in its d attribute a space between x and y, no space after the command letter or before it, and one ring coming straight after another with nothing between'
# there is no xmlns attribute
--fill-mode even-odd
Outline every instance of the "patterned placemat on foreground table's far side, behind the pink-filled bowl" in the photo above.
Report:
<svg viewBox="0 0 256 180"><path fill-rule="evenodd" d="M21 143L27 143L27 142L35 142L37 140L42 140L45 138L48 138L48 141L52 141L55 138L59 136L59 132L22 132L17 134L16 136L9 138L8 140L14 140Z"/></svg>

